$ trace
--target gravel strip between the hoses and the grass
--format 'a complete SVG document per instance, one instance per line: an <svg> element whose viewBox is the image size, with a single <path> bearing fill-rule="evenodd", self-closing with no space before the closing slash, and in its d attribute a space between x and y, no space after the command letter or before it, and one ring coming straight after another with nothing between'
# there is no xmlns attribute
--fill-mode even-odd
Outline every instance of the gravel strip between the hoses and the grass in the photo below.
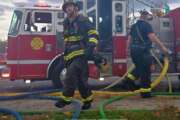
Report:
<svg viewBox="0 0 180 120"><path fill-rule="evenodd" d="M107 100L106 98L95 98L92 109L98 109L99 103ZM49 100L16 100L1 101L0 107L9 108L18 111L68 111L72 109L69 105L63 109L54 106L55 101ZM150 99L142 99L140 97L130 97L107 106L107 109L160 109L165 106L174 106L180 108L180 97L153 97Z"/></svg>

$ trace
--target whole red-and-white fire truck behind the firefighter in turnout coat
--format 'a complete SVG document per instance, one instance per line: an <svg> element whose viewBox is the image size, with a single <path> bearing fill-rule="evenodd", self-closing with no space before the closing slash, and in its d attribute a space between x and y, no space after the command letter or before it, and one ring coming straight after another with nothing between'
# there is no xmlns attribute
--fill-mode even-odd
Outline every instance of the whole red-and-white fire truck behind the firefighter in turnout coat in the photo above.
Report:
<svg viewBox="0 0 180 120"><path fill-rule="evenodd" d="M99 51L112 63L112 75L123 75L127 70L126 0L78 2L80 13L88 15L99 31ZM63 52L63 19L64 13L60 8L45 4L21 6L14 10L6 63L11 80L49 79L54 86L61 86L59 76L64 70L55 70ZM89 66L90 76L98 77L99 71L92 61L89 61Z"/></svg>

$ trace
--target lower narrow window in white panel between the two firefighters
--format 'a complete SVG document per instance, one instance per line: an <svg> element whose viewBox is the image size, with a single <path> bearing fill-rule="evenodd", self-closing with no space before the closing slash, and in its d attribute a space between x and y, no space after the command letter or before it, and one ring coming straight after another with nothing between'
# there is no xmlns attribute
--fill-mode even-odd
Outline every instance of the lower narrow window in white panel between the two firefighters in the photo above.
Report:
<svg viewBox="0 0 180 120"><path fill-rule="evenodd" d="M122 16L118 15L116 16L116 32L123 32L123 20L122 20Z"/></svg>

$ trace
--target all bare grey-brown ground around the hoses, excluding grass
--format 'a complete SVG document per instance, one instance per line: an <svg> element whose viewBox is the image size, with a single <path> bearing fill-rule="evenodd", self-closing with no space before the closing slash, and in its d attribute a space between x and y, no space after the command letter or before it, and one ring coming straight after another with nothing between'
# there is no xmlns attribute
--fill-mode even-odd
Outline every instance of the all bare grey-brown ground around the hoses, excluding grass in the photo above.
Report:
<svg viewBox="0 0 180 120"><path fill-rule="evenodd" d="M95 88L106 86L112 81L116 80L117 77L112 77L111 79L105 79L105 81L99 82L90 80L91 85L96 85ZM98 83L98 84L97 84ZM164 85L164 84L162 84ZM0 94L6 94L11 92L29 92L38 90L53 89L51 81L36 81L31 84L25 84L22 80L17 81L7 81L0 80ZM104 97L95 96L92 109L97 109L101 101L107 100L110 96L106 95ZM54 107L55 101L49 100L15 100L15 101L1 101L0 107L11 108L18 111L68 111L72 109L69 105L63 109L58 109ZM180 97L153 97L150 99L142 99L139 96L129 97L118 102L114 102L108 105L108 109L158 109L164 106L175 106L180 108Z"/></svg>

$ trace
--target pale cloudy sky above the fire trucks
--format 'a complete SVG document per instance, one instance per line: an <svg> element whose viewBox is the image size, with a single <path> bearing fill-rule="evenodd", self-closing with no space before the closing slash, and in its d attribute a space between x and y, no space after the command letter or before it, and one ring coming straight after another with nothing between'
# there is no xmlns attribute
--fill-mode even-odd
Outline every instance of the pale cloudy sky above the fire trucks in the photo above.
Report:
<svg viewBox="0 0 180 120"><path fill-rule="evenodd" d="M34 4L37 1L46 1L51 5L58 5L63 0L0 0L0 39L5 39L7 37L7 32L9 29L9 24L12 15L12 9L19 2L25 2L28 4ZM149 3L150 5L161 6L163 3L168 3L171 9L180 7L180 0L141 0ZM130 0L132 3L132 0ZM145 6L141 3L135 2L137 9L144 9ZM131 5L132 6L132 5Z"/></svg>

